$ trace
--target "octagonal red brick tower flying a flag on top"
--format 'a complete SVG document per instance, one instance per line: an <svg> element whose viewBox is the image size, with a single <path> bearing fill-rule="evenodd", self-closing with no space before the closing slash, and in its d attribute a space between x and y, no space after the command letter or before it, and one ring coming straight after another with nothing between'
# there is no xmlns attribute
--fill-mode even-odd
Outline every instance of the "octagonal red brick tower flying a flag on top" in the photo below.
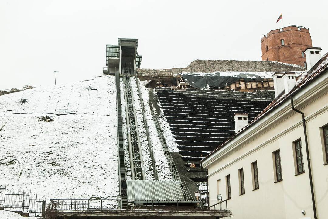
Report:
<svg viewBox="0 0 328 219"><path fill-rule="evenodd" d="M290 25L270 31L261 39L262 60L278 61L306 67L304 51L312 47L308 28Z"/></svg>

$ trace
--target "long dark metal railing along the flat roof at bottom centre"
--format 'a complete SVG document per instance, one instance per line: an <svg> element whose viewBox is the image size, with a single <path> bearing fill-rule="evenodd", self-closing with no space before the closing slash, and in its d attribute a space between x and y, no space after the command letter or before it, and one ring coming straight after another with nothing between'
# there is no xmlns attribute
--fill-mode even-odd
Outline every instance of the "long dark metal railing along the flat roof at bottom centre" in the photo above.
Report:
<svg viewBox="0 0 328 219"><path fill-rule="evenodd" d="M126 208L121 208L127 201ZM209 203L215 203L209 205ZM51 210L215 210L228 211L227 200L50 199Z"/></svg>

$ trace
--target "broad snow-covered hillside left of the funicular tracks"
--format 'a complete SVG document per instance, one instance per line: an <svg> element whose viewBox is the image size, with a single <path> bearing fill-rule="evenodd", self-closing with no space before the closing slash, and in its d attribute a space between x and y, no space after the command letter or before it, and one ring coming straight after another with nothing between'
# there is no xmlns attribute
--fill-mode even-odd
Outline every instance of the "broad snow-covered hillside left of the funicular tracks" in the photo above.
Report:
<svg viewBox="0 0 328 219"><path fill-rule="evenodd" d="M48 115L52 122L39 121ZM0 97L0 185L46 198L118 195L115 77Z"/></svg>

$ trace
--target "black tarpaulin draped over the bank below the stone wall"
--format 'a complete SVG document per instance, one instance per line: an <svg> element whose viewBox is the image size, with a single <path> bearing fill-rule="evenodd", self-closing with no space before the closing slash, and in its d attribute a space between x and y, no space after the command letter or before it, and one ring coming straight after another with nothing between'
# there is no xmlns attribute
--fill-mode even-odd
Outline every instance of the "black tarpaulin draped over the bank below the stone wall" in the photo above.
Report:
<svg viewBox="0 0 328 219"><path fill-rule="evenodd" d="M198 89L206 88L223 88L240 79L245 82L249 81L262 81L263 78L251 73L239 73L233 76L221 76L219 72L204 74L204 73L188 73L181 74L182 78L190 84L190 86Z"/></svg>

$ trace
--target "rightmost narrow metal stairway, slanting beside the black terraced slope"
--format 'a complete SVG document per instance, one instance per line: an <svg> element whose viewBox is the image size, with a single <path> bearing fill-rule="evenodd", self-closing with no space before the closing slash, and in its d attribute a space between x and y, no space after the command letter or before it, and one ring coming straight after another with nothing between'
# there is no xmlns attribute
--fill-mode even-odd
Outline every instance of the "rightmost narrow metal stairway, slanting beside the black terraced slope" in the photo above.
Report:
<svg viewBox="0 0 328 219"><path fill-rule="evenodd" d="M169 150L169 147L167 146L167 143L165 141L165 137L163 135L162 129L161 129L160 125L159 125L158 118L157 118L157 116L156 116L156 114L154 112L153 104L151 102L149 102L149 107L150 107L150 111L151 111L151 114L152 114L152 117L153 117L153 120L154 120L154 123L155 123L155 128L156 128L156 131L157 131L159 140L160 140L160 142L162 144L162 147L163 147L163 151L164 151L166 160L167 160L167 162L168 162L168 164L170 166L170 170L171 170L171 173L173 175L173 179L176 180L176 181L179 181L179 184L180 184L181 189L182 189L183 196L185 198L188 198L186 189L185 189L185 187L182 184L182 181L180 179L179 173L178 173L178 171L176 169L176 166L174 164L174 161L173 161L171 152Z"/></svg>

